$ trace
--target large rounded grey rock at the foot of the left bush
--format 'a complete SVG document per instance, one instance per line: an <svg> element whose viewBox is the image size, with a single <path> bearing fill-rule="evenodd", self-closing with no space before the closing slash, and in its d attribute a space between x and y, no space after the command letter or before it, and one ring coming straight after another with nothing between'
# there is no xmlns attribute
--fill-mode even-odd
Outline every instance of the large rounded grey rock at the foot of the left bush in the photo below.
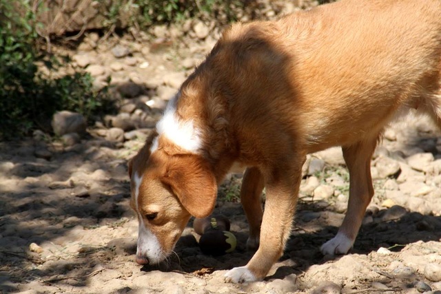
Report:
<svg viewBox="0 0 441 294"><path fill-rule="evenodd" d="M86 121L83 115L76 112L63 110L54 114L52 118L52 129L57 136L64 134L85 133Z"/></svg>

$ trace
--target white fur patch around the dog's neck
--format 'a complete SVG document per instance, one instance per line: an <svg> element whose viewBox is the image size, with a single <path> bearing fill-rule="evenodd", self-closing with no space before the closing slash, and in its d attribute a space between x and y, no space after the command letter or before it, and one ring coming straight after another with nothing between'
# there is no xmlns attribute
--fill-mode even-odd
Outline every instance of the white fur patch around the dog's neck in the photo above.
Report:
<svg viewBox="0 0 441 294"><path fill-rule="evenodd" d="M194 127L193 120L182 120L176 115L176 103L180 93L176 94L169 101L165 109L164 116L158 121L156 131L159 136L165 136L175 145L192 153L198 153L201 149L201 131ZM154 139L150 151L153 152L158 148L158 140Z"/></svg>

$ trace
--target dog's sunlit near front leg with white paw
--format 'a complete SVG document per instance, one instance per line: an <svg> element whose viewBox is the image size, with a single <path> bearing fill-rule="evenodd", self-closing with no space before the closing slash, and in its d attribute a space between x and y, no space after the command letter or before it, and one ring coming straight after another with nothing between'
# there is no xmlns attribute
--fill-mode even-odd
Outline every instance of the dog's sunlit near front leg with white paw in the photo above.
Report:
<svg viewBox="0 0 441 294"><path fill-rule="evenodd" d="M278 168L264 173L267 199L260 227L260 246L246 266L236 267L225 274L227 282L263 280L271 266L280 258L291 233L300 186L300 160L295 169Z"/></svg>

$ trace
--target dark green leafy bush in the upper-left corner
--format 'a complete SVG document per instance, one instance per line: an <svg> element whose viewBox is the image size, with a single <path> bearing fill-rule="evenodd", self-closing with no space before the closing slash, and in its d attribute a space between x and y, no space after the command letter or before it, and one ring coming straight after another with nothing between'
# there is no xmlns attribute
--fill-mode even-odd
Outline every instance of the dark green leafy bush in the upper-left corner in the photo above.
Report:
<svg viewBox="0 0 441 294"><path fill-rule="evenodd" d="M90 74L52 78L39 72L37 63L49 72L61 63L38 49L30 2L14 2L0 0L0 138L26 135L35 127L48 131L52 114L58 110L91 118L110 107L107 88L94 90Z"/></svg>

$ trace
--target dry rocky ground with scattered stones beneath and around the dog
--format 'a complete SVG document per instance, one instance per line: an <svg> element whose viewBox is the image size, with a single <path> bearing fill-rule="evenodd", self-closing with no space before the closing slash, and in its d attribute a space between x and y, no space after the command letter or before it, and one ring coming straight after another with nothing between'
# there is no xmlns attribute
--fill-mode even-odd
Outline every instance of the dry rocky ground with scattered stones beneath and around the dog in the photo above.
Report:
<svg viewBox="0 0 441 294"><path fill-rule="evenodd" d="M296 9L280 7L263 15ZM85 133L58 129L56 137L35 132L0 143L0 293L441 292L441 133L420 117L384 134L371 165L376 196L348 255L319 251L347 204L348 174L335 148L309 156L292 237L263 282L223 281L227 269L252 256L238 203L240 175L225 180L216 205L232 222L236 251L203 255L191 221L167 264L134 262L137 221L129 207L127 159L220 30L188 21L156 27L152 36L89 33L75 50L54 48L72 56L67 72L89 71L97 88L111 76L119 113Z"/></svg>

